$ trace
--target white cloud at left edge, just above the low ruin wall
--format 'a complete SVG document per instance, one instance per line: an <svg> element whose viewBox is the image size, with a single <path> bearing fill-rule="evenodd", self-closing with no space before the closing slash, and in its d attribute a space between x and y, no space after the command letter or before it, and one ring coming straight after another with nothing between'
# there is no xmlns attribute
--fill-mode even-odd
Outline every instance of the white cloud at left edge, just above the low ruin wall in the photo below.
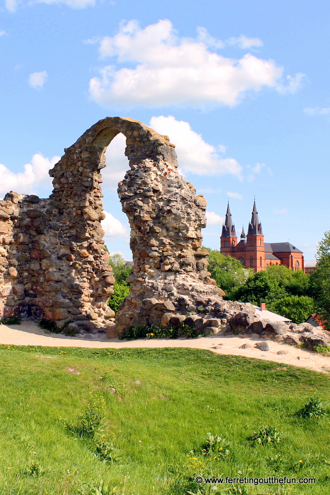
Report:
<svg viewBox="0 0 330 495"><path fill-rule="evenodd" d="M41 153L33 155L31 163L24 165L24 172L14 173L0 163L0 194L9 191L16 193L32 194L38 188L52 190L52 179L48 170L53 168L60 159L59 156L44 158Z"/></svg>

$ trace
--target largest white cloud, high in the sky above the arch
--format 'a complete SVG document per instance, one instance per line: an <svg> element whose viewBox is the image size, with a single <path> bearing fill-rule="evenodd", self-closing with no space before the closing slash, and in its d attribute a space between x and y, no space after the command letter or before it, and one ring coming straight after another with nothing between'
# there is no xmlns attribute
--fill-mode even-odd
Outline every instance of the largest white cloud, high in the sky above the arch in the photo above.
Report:
<svg viewBox="0 0 330 495"><path fill-rule="evenodd" d="M286 87L281 83L283 68L273 60L250 53L239 60L226 58L208 49L210 43L214 47L220 42L202 28L197 40L180 38L166 19L144 29L134 20L122 23L118 34L101 40L100 55L136 66L104 66L100 76L89 82L90 96L105 107L207 103L232 106L248 91L269 87L284 93L297 88L300 76L288 76Z"/></svg>

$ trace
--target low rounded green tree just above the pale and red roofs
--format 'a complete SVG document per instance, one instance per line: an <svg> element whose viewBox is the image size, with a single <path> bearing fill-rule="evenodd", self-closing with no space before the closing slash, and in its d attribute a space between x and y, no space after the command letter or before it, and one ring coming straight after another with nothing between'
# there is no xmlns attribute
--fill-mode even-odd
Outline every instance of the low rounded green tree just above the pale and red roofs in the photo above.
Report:
<svg viewBox="0 0 330 495"><path fill-rule="evenodd" d="M301 323L314 313L315 301L308 296L287 296L271 302L267 309L289 318L293 323Z"/></svg>

